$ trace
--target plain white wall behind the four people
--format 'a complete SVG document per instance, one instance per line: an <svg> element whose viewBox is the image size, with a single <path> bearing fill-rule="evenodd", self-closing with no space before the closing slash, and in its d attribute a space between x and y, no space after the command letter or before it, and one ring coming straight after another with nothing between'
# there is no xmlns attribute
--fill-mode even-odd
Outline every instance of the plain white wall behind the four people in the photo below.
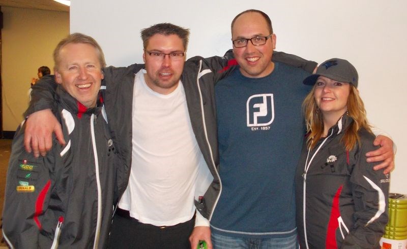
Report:
<svg viewBox="0 0 407 249"><path fill-rule="evenodd" d="M223 55L231 48L230 22L241 11L259 9L272 19L277 50L322 62L350 60L360 75L359 90L371 123L397 144L392 192L407 194L407 1L404 0L224 0L72 1L71 32L92 35L108 64L142 62L139 31L155 23L188 27L188 57ZM404 106L404 107L403 107Z"/></svg>

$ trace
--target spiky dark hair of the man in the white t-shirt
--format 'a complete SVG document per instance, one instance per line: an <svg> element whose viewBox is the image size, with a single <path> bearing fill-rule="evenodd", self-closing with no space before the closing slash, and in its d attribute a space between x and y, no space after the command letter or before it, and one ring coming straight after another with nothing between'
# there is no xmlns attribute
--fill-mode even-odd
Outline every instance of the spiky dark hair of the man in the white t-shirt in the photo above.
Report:
<svg viewBox="0 0 407 249"><path fill-rule="evenodd" d="M141 29L141 39L143 40L144 49L147 48L150 38L155 34L171 35L176 34L182 39L185 50L188 47L189 29L181 26L174 25L172 23L158 23L148 28Z"/></svg>

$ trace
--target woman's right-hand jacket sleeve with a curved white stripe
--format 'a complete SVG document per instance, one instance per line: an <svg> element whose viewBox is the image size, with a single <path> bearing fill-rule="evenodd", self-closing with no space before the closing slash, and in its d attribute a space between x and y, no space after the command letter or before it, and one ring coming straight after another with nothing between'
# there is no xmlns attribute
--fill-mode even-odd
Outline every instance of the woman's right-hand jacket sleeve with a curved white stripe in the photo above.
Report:
<svg viewBox="0 0 407 249"><path fill-rule="evenodd" d="M373 170L373 163L366 162L365 154L375 150L374 137L362 139L356 152L356 163L351 174L352 194L355 202L355 225L343 240L341 248L380 248L388 222L389 174Z"/></svg>

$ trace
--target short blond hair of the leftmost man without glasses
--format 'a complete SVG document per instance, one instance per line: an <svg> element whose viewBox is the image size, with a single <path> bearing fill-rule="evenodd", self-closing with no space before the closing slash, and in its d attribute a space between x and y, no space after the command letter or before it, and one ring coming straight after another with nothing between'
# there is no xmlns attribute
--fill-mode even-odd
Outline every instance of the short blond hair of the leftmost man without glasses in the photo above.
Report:
<svg viewBox="0 0 407 249"><path fill-rule="evenodd" d="M99 46L99 44L96 42L95 39L93 39L92 37L90 37L89 35L83 34L83 33L72 33L70 35L68 35L66 38L64 38L58 45L56 45L56 48L54 50L53 53L53 57L54 57L54 68L58 69L61 58L60 58L60 53L62 48L65 45L68 45L70 43L84 43L84 44L89 44L91 46L93 46L97 53L98 53L98 57L99 57L99 62L100 62L100 66L101 67L105 67L106 66L106 62L105 62L105 56L103 55L103 51L102 48Z"/></svg>

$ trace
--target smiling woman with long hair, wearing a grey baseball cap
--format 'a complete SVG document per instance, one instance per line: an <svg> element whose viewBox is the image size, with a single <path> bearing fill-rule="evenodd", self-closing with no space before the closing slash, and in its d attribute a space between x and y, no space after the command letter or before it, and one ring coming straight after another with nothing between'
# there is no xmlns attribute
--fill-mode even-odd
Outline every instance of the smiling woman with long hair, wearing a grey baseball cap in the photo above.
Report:
<svg viewBox="0 0 407 249"><path fill-rule="evenodd" d="M304 84L313 88L303 103L308 134L296 174L301 248L380 248L390 179L366 162L375 136L358 73L347 60L333 58Z"/></svg>

